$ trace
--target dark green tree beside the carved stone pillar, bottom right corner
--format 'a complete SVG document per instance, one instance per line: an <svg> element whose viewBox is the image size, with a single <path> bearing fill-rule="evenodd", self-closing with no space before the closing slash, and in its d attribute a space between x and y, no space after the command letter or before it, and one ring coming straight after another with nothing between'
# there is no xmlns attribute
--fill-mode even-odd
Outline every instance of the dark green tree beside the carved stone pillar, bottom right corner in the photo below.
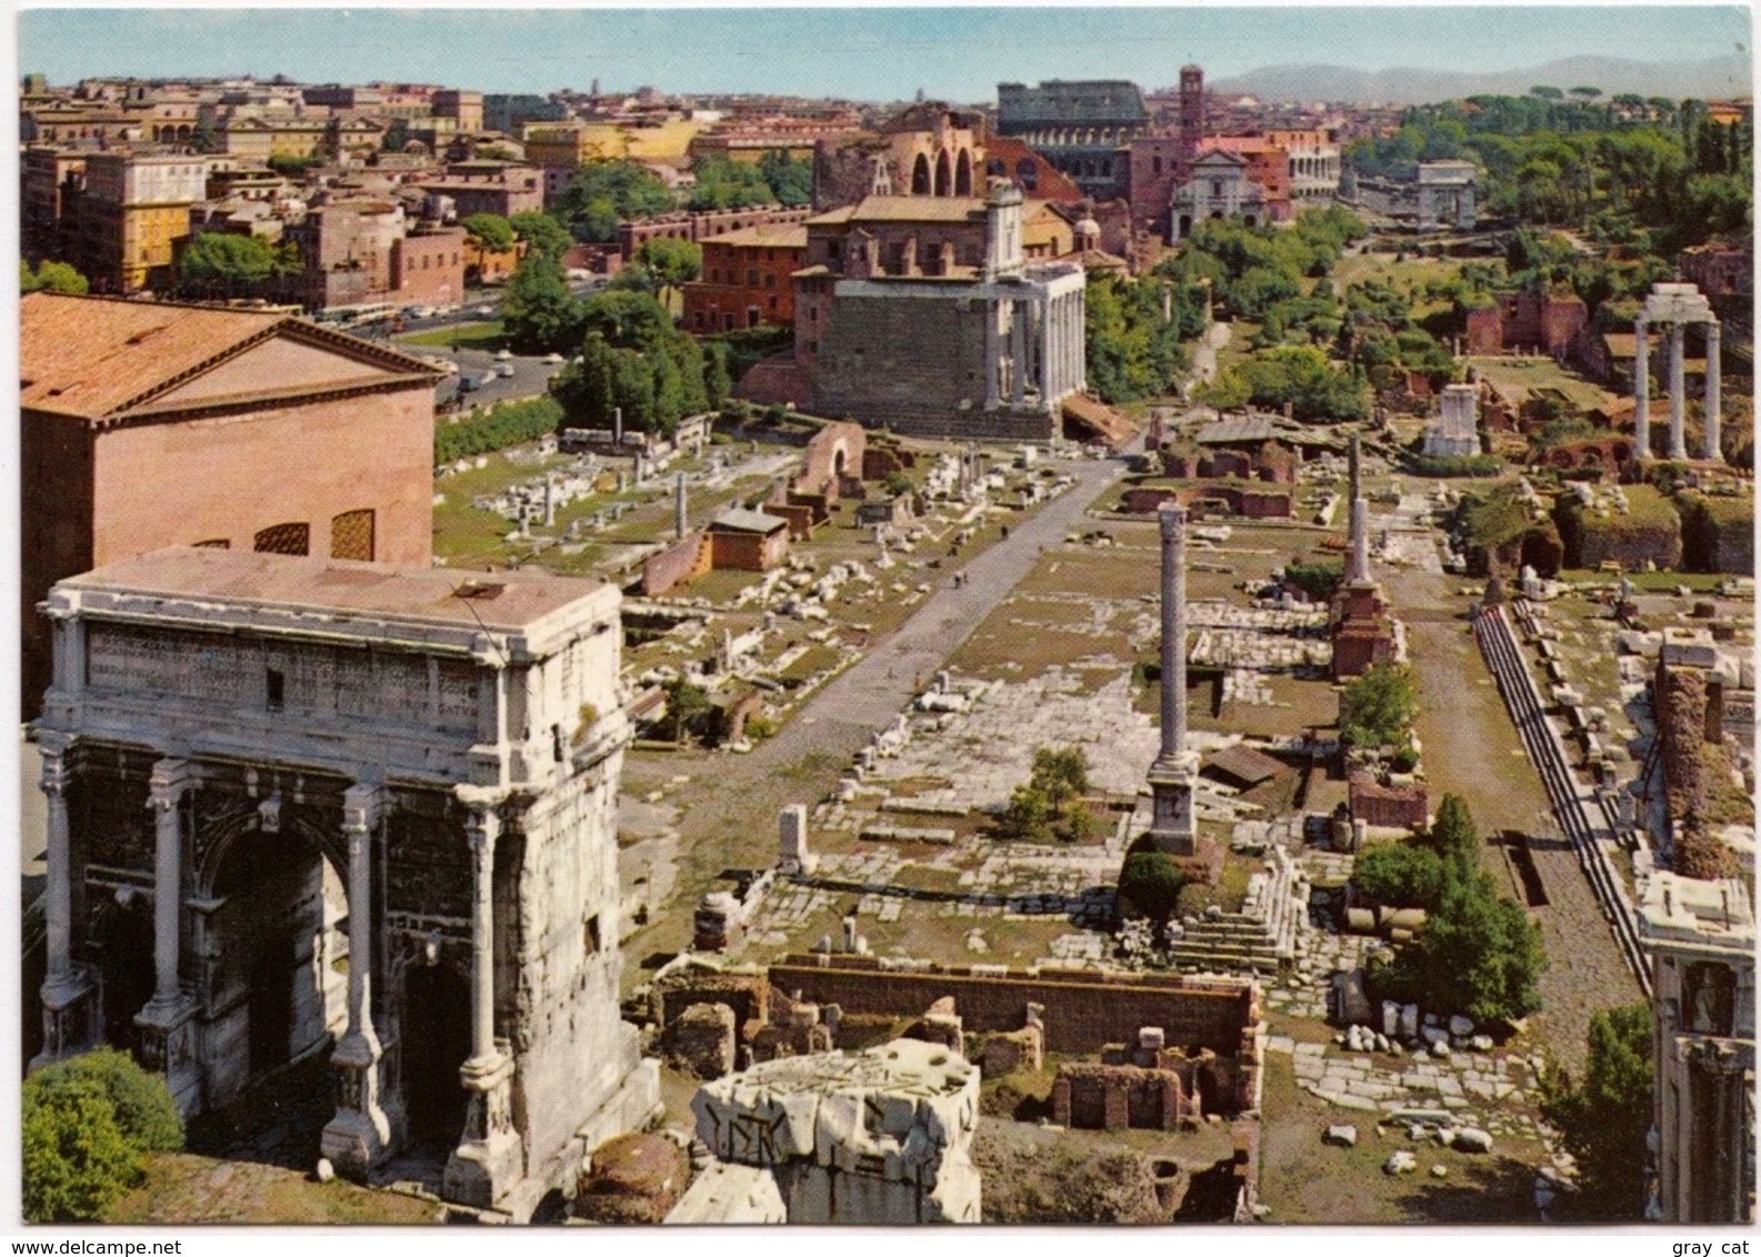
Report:
<svg viewBox="0 0 1761 1257"><path fill-rule="evenodd" d="M1541 1116L1578 1160L1590 1222L1636 1222L1645 1204L1645 1137L1652 1125L1652 1012L1647 1003L1597 1009L1583 1081L1541 1076Z"/></svg>

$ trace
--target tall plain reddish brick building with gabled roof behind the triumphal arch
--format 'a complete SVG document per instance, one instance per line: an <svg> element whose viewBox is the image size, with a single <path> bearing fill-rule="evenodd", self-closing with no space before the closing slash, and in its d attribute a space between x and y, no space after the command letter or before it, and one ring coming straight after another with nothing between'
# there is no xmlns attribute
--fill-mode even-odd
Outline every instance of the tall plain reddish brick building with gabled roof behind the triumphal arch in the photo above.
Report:
<svg viewBox="0 0 1761 1257"><path fill-rule="evenodd" d="M37 602L164 546L426 563L428 364L305 319L32 292L19 303L25 709Z"/></svg>

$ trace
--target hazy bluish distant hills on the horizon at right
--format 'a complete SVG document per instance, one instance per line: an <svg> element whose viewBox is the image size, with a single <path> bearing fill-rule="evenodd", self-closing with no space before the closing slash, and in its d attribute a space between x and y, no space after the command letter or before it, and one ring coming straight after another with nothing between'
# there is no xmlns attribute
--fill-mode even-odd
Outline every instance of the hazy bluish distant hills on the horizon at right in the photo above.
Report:
<svg viewBox="0 0 1761 1257"><path fill-rule="evenodd" d="M1754 92L1754 67L1742 53L1710 62L1634 62L1618 56L1567 56L1525 70L1352 70L1344 65L1266 65L1206 83L1213 92L1263 100L1351 100L1358 104L1433 104L1470 95L1527 95L1536 85L1560 90L1601 88L1606 95L1728 99Z"/></svg>

